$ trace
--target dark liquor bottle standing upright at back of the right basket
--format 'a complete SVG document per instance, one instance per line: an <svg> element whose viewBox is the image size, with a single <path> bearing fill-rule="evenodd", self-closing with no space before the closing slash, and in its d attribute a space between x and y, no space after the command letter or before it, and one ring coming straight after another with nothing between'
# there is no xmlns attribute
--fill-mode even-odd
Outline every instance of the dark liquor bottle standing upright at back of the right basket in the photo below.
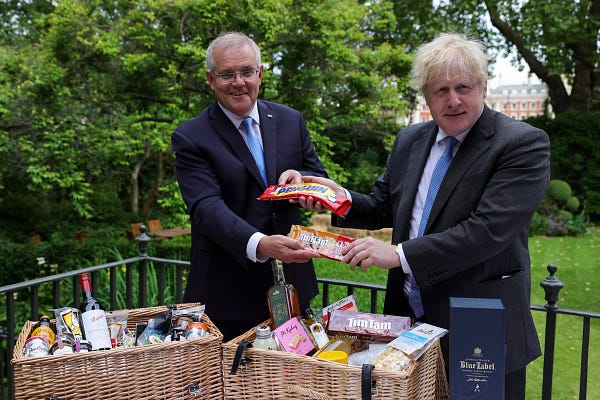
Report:
<svg viewBox="0 0 600 400"><path fill-rule="evenodd" d="M300 300L298 291L285 281L283 263L279 260L271 262L273 268L274 284L267 292L269 312L275 328L288 321L290 318L300 316Z"/></svg>

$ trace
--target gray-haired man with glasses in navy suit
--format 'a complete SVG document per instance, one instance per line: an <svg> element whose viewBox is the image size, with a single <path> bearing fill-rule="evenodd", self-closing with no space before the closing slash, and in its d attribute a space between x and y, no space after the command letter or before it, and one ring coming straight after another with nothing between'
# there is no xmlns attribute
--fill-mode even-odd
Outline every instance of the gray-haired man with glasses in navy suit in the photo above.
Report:
<svg viewBox="0 0 600 400"><path fill-rule="evenodd" d="M287 169L327 176L300 112L258 100L260 50L230 32L206 52L206 79L216 101L172 134L177 180L192 222L186 302L201 302L228 341L269 318L269 259L283 261L286 280L305 309L318 293L312 258L286 235L301 224L297 204L259 201Z"/></svg>

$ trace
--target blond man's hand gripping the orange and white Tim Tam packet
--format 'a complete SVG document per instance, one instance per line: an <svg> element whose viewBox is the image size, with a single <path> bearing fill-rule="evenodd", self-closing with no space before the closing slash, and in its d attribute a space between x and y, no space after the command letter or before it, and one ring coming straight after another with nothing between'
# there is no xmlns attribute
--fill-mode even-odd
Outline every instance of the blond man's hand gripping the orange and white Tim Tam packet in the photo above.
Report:
<svg viewBox="0 0 600 400"><path fill-rule="evenodd" d="M373 237L356 239L342 250L342 254L342 262L348 263L352 270L357 266L362 271L366 271L371 266L382 269L400 266L396 246Z"/></svg>

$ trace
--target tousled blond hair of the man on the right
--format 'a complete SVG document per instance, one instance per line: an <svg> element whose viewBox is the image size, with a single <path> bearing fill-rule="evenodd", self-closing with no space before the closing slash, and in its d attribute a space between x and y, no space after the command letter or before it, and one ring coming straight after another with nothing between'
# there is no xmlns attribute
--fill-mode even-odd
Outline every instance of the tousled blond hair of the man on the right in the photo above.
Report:
<svg viewBox="0 0 600 400"><path fill-rule="evenodd" d="M417 49L410 83L424 92L425 87L438 77L450 79L467 75L478 85L485 86L487 65L485 46L481 41L455 33L441 33Z"/></svg>

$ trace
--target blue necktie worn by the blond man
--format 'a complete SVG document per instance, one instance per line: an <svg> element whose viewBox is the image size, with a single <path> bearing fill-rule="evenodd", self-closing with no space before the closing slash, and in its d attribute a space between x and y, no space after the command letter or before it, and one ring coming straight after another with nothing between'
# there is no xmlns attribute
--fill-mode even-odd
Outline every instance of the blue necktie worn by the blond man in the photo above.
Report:
<svg viewBox="0 0 600 400"><path fill-rule="evenodd" d="M444 180L444 175L446 175L448 166L450 166L450 163L452 162L452 149L456 143L458 143L458 140L452 136L446 136L442 141L445 142L446 148L433 168L433 174L431 175L431 181L429 182L429 189L427 190L427 197L425 198L425 205L423 206L423 215L421 216L421 222L419 223L419 232L417 233L418 237L423 236L425 226L427 225L427 219L429 218L431 208L433 207L433 202L435 201L435 196L437 195L442 181ZM412 307L415 317L419 318L423 316L425 312L423 311L423 303L421 302L421 291L419 290L419 286L417 285L413 275L410 276L410 293L408 294L408 303Z"/></svg>

